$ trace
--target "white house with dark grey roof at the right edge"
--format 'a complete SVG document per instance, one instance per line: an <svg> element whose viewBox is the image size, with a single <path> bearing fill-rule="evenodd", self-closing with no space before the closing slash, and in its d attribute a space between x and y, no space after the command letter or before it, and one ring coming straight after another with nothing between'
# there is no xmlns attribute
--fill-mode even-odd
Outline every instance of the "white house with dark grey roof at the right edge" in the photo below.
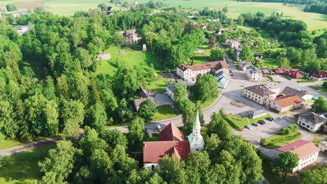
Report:
<svg viewBox="0 0 327 184"><path fill-rule="evenodd" d="M322 125L324 125L327 122L327 118L324 118L324 116L319 116L319 114L315 114L314 112L305 112L303 114L298 115L298 121L297 123L304 128L307 128L307 130L310 130L312 132L316 132L317 130L320 130L322 128Z"/></svg>

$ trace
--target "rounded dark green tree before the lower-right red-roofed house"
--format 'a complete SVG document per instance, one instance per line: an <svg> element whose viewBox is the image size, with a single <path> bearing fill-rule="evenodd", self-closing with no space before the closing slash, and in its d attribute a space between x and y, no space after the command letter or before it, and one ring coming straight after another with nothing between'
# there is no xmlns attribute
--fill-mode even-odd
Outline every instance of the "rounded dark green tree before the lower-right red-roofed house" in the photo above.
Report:
<svg viewBox="0 0 327 184"><path fill-rule="evenodd" d="M298 155L286 151L285 153L280 153L276 160L273 171L277 174L282 174L283 178L286 178L286 174L292 173L293 168L298 166Z"/></svg>

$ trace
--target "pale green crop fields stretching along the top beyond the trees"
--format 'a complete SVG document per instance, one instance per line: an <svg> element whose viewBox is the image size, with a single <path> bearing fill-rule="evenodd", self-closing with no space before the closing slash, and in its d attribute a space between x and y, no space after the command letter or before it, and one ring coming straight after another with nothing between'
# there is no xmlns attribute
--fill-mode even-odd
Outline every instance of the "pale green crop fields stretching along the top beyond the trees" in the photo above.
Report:
<svg viewBox="0 0 327 184"><path fill-rule="evenodd" d="M133 3L133 0L128 0ZM140 0L139 3L144 3L149 0ZM295 20L303 20L308 26L308 30L324 29L327 27L327 15L319 13L305 13L298 6L283 5L282 3L261 3L261 2L238 2L225 0L158 0L168 4L168 6L182 6L182 8L189 8L189 10L209 8L223 8L228 7L228 15L236 18L240 13L256 13L261 11L266 15L273 12L284 13L285 18L292 18ZM106 0L11 0L0 1L0 7L4 7L7 3L17 4L18 10L27 10L27 8L34 8L35 6L43 6L46 10L57 15L73 15L78 10L89 10L96 8L99 3L108 2ZM114 5L112 5L114 6ZM119 6L114 6L120 9Z"/></svg>

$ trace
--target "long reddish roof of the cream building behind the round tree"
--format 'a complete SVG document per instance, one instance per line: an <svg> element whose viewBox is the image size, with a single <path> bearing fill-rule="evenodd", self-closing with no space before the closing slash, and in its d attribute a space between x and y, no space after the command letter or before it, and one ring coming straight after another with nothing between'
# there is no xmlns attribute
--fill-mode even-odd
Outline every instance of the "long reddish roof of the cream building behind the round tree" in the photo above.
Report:
<svg viewBox="0 0 327 184"><path fill-rule="evenodd" d="M219 70L221 68L228 69L228 64L226 63L226 61L211 61L208 63L193 65L193 66L179 65L178 68L180 68L180 70L182 70L183 72L187 69L192 71L210 70L210 69Z"/></svg>

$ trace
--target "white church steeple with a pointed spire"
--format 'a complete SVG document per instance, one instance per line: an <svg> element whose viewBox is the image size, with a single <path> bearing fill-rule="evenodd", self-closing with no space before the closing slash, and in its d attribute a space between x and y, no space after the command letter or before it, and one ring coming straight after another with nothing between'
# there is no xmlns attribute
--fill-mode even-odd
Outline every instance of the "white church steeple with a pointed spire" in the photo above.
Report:
<svg viewBox="0 0 327 184"><path fill-rule="evenodd" d="M191 147L191 151L202 151L204 148L198 111L196 112L196 121L193 123L193 131L189 135L189 146Z"/></svg>

